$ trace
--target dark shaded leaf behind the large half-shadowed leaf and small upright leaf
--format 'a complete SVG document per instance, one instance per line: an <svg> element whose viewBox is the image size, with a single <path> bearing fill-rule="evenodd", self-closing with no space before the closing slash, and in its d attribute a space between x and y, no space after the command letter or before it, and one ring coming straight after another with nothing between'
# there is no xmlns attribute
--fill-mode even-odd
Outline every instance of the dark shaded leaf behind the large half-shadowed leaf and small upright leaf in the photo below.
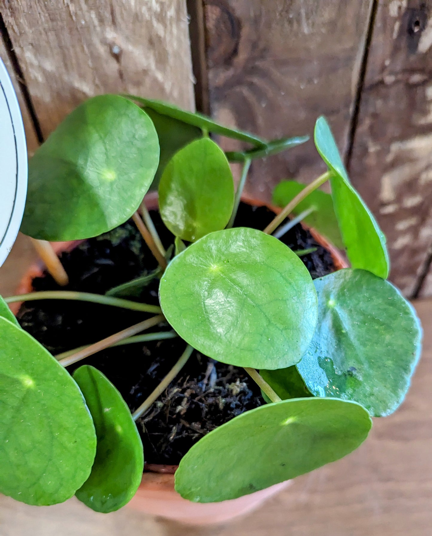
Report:
<svg viewBox="0 0 432 536"><path fill-rule="evenodd" d="M173 117L159 114L152 108L144 106L143 109L150 116L153 125L155 125L159 138L159 166L152 184L152 189L156 189L165 166L173 155L181 147L193 142L194 139L201 138L202 130L197 126L189 125Z"/></svg>

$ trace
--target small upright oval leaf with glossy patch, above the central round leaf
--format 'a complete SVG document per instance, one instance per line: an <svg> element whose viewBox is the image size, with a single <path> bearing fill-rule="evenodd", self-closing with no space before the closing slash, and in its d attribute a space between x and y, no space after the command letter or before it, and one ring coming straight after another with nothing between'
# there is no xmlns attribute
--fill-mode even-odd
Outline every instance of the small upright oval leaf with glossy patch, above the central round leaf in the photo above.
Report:
<svg viewBox="0 0 432 536"><path fill-rule="evenodd" d="M175 236L194 242L223 229L234 205L234 182L224 152L210 138L176 153L159 183L159 210Z"/></svg>

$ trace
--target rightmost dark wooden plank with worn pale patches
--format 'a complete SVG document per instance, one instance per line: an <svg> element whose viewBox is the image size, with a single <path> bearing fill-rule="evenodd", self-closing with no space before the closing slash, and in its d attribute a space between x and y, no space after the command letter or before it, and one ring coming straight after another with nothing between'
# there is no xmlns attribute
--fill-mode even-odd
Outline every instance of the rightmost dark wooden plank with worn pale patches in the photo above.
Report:
<svg viewBox="0 0 432 536"><path fill-rule="evenodd" d="M432 244L431 46L432 1L379 0L349 162L408 296Z"/></svg>

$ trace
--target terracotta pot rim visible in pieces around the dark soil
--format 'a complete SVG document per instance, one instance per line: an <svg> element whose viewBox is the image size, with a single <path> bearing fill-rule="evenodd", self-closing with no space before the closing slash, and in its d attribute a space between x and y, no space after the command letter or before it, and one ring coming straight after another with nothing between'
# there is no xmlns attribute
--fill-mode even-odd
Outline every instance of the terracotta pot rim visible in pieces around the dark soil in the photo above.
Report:
<svg viewBox="0 0 432 536"><path fill-rule="evenodd" d="M242 195L241 200L245 203L248 203L250 205L254 206L266 206L268 209L272 210L275 214L279 214L281 212L281 208L274 206L270 203L266 203L262 200L255 199L248 195ZM158 193L157 192L150 192L144 197L145 205L147 206L148 210L157 210L158 208ZM303 222L301 223L303 228L306 230L309 230L313 238L322 245L328 252L330 252L330 255L332 256L333 264L336 268L336 270L342 270L343 268L348 268L349 265L347 263L347 260L343 257L342 253L339 251L338 248L336 248L332 243L330 243L324 236L322 236L320 233L318 233L315 229L305 225ZM84 240L72 240L70 242L51 242L53 245L54 251L59 254L62 251L71 251L72 249L76 248L78 244L84 242ZM32 264L24 277L20 280L19 285L17 287L17 295L19 294L26 294L29 292L29 289L32 288L32 281L36 277L40 277L44 265L41 259L39 259L37 262ZM11 303L10 308L14 315L17 314L22 302L16 302ZM177 471L178 465L166 465L166 464L148 464L147 462L144 464L144 472L150 472L150 473L159 473L159 474L174 474L175 471Z"/></svg>

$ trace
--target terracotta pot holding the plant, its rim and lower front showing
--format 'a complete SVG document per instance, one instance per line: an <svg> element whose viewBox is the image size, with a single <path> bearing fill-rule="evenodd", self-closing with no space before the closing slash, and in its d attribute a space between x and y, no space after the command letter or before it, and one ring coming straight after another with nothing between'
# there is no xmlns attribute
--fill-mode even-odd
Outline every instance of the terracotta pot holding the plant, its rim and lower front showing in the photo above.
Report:
<svg viewBox="0 0 432 536"><path fill-rule="evenodd" d="M267 206L275 213L281 209L263 203L260 200L247 196L242 197L243 201L256 206ZM145 197L145 204L149 210L157 209L157 192L152 192ZM336 269L348 267L341 252L329 243L323 236L307 226L314 239L330 251L333 263ZM53 242L53 247L57 253L70 251L74 249L81 240L72 242ZM43 263L39 262L30 266L24 278L20 281L17 294L26 294L32 292L32 281L35 277L41 277L43 274ZM11 304L14 314L18 312L20 303ZM269 488L262 489L249 495L244 495L237 499L222 501L218 503L194 503L182 498L174 490L174 473L176 465L156 465L145 464L141 485L136 495L128 503L128 508L140 510L154 516L162 516L174 519L182 523L193 525L209 525L223 523L237 516L244 515L247 512L257 508L267 498L273 496L280 490L290 485L291 481L287 480Z"/></svg>

